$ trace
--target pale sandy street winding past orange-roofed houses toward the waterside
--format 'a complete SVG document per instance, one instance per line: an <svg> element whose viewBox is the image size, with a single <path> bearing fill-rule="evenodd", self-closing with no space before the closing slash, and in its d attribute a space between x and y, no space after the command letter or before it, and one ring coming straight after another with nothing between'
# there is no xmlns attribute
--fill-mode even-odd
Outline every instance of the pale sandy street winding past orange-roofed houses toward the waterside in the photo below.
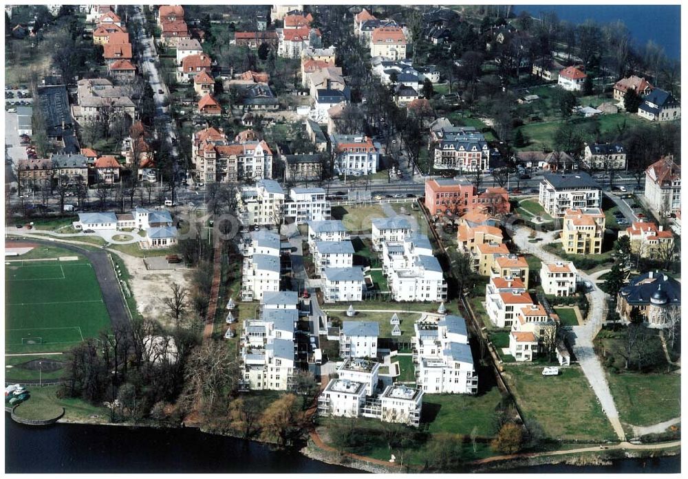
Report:
<svg viewBox="0 0 688 479"><path fill-rule="evenodd" d="M537 232L537 237L544 238L544 241L528 243L530 231L530 228L527 227L519 226L515 228L513 241L522 252L532 253L543 261L561 261L559 256L546 252L541 247L543 243L552 241L552 233ZM557 232L554 234L557 234ZM619 412L616 411L616 405L614 405L614 398L609 389L605 372L592 349L592 339L594 339L596 331L598 331L599 326L604 320L603 315L606 311L607 294L597 287L594 278L590 275L579 271L579 276L584 281L590 281L593 287L593 290L588 294L590 313L583 326L572 326L572 331L570 331L568 338L585 377L588 378L588 382L590 382L590 386L594 390L604 413L607 415L610 423L612 423L612 427L614 427L614 432L619 436L619 441L625 441L625 433L623 432L621 421L619 421Z"/></svg>

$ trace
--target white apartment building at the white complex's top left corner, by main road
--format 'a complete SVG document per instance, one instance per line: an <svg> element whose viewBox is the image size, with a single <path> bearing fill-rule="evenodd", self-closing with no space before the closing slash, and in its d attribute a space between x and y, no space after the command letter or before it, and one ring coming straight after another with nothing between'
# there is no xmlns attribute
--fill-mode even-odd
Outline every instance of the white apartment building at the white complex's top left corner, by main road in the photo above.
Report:
<svg viewBox="0 0 688 479"><path fill-rule="evenodd" d="M274 179L237 188L237 213L243 225L277 225L283 218L284 190Z"/></svg>

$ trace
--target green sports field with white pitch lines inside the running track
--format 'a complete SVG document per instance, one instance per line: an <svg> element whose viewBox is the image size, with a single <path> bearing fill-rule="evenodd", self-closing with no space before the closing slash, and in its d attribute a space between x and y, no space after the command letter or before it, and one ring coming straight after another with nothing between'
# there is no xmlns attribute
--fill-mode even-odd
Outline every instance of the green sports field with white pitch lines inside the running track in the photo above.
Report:
<svg viewBox="0 0 688 479"><path fill-rule="evenodd" d="M6 353L63 351L109 330L94 269L76 258L6 260Z"/></svg>

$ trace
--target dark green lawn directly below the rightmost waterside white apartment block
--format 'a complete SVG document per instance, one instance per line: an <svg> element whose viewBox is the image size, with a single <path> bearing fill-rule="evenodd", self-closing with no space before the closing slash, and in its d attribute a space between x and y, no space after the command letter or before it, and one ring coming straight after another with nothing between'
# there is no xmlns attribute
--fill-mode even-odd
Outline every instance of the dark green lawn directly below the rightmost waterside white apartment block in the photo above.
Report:
<svg viewBox="0 0 688 479"><path fill-rule="evenodd" d="M429 432L451 432L491 437L494 434L495 408L502 399L497 386L484 394L424 394L422 421L433 418Z"/></svg>

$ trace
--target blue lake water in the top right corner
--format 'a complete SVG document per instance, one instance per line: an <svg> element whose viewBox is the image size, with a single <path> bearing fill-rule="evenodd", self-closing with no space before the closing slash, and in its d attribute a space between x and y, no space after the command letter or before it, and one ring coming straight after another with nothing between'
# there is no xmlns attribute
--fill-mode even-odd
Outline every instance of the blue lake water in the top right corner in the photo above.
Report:
<svg viewBox="0 0 688 479"><path fill-rule="evenodd" d="M518 14L526 10L537 17L540 12L555 12L559 20L598 23L621 20L637 45L652 40L664 47L669 58L680 58L681 9L679 5L515 5Z"/></svg>

